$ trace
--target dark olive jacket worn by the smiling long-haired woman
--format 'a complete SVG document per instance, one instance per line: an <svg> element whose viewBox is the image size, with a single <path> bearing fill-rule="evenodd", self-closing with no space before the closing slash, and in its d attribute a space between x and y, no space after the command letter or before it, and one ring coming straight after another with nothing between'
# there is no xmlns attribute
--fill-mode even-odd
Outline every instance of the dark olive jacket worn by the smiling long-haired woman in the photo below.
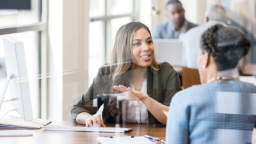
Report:
<svg viewBox="0 0 256 144"><path fill-rule="evenodd" d="M180 88L180 80L177 72L169 63L160 63L159 70L154 71L150 67L147 69L147 93L150 97L157 100L161 104L170 106L170 101L176 92L182 90ZM93 79L93 83L83 97L74 105L71 111L72 119L76 122L76 116L81 112L90 113L90 109L84 106L92 99L96 99L98 94L110 93L112 79L109 77L109 68L100 68L97 76ZM115 118L108 111L108 101L104 103L102 119L107 123L116 122ZM156 118L148 111L149 124L160 124Z"/></svg>

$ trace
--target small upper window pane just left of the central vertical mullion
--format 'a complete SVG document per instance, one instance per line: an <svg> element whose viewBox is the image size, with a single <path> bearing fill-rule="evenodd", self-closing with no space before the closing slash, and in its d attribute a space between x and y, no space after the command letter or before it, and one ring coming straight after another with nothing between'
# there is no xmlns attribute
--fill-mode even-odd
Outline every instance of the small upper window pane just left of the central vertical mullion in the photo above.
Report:
<svg viewBox="0 0 256 144"><path fill-rule="evenodd" d="M104 16L105 1L104 0L90 0L90 17Z"/></svg>

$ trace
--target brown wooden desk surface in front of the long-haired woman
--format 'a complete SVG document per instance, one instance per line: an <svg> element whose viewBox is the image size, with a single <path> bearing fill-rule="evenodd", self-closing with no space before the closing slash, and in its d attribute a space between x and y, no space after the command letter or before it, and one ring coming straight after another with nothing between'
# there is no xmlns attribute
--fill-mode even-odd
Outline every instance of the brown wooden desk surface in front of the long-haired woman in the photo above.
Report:
<svg viewBox="0 0 256 144"><path fill-rule="evenodd" d="M51 125L63 126L83 126L72 122L52 122ZM115 124L107 124L107 127L115 127ZM125 133L113 132L74 132L74 131L44 131L44 129L31 130L33 136L24 137L0 137L0 143L4 144L47 144L47 143L61 143L61 144L84 144L84 143L98 143L97 136L144 136L145 134L157 138L165 139L164 125L150 125L150 124L125 124L120 127L132 128L132 131ZM1 131L1 129L0 129ZM161 143L160 141L158 142Z"/></svg>

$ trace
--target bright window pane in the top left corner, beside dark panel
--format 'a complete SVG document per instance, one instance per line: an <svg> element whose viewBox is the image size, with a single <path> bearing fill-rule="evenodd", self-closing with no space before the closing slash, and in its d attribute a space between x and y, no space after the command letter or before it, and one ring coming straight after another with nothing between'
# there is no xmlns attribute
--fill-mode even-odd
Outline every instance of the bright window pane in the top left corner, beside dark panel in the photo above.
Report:
<svg viewBox="0 0 256 144"><path fill-rule="evenodd" d="M31 10L0 10L0 27L38 22L38 0L31 1Z"/></svg>

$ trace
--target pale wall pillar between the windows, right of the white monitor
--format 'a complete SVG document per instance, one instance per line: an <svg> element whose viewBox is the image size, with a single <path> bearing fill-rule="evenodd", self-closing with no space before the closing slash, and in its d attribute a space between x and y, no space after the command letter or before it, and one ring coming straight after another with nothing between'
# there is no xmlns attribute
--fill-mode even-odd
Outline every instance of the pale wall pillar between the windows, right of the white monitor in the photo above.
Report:
<svg viewBox="0 0 256 144"><path fill-rule="evenodd" d="M49 1L49 106L51 120L70 110L88 87L89 2Z"/></svg>

